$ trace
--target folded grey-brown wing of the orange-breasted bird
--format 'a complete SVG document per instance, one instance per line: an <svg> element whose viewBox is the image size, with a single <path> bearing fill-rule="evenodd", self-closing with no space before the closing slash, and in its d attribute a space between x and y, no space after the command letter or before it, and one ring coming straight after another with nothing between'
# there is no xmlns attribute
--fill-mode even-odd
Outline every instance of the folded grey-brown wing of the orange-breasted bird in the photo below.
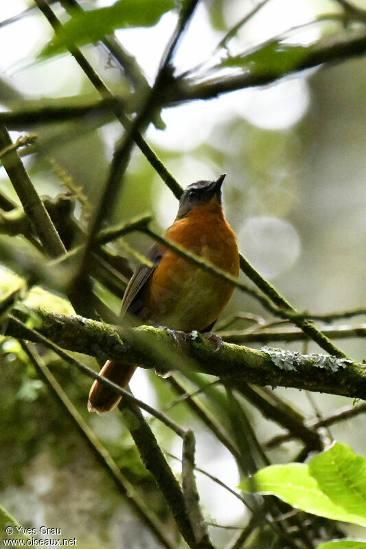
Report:
<svg viewBox="0 0 366 549"><path fill-rule="evenodd" d="M139 299L141 289L143 289L144 285L148 282L152 276L152 273L157 268L157 265L159 265L159 261L163 257L164 251L165 250L163 247L158 243L153 244L148 249L146 258L152 262L152 267L148 267L147 265L144 265L144 263L141 263L136 267L124 293L124 298L122 300L122 314L125 312L130 312L137 317L139 316L139 311L134 310L134 305Z"/></svg>

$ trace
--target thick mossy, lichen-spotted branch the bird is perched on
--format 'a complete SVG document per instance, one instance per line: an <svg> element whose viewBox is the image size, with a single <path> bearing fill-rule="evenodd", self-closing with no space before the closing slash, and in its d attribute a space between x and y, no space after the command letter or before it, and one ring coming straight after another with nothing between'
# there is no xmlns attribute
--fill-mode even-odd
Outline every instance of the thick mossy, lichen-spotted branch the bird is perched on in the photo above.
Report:
<svg viewBox="0 0 366 549"><path fill-rule="evenodd" d="M234 386L244 379L255 385L279 385L366 399L366 366L345 359L284 350L255 350L227 343L215 350L196 333L177 343L165 329L117 327L41 309L16 309L13 314L23 320L36 315L39 333L60 347L93 357L124 359L143 368L159 370L198 370L221 377ZM22 331L11 319L5 335L30 337L28 331Z"/></svg>

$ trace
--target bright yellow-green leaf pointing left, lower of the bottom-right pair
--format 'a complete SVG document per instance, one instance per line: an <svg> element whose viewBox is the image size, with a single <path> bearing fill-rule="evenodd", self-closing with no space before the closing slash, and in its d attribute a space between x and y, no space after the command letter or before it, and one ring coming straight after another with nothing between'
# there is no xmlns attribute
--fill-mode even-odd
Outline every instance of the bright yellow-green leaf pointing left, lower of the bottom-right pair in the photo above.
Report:
<svg viewBox="0 0 366 549"><path fill-rule="evenodd" d="M321 490L317 480L310 475L309 467L305 464L290 463L264 467L253 477L242 480L239 488L249 493L277 495L284 502L313 515L366 526L364 513L349 513L342 506L332 502Z"/></svg>

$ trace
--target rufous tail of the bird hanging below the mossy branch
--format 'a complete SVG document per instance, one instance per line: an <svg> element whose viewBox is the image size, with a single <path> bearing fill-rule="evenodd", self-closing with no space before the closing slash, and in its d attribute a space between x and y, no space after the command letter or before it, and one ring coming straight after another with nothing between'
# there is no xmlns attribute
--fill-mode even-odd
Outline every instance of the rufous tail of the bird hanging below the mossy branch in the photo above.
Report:
<svg viewBox="0 0 366 549"><path fill-rule="evenodd" d="M133 377L135 370L136 366L133 364L107 360L102 370L100 370L100 375L117 383L119 387L124 389L127 387L131 377ZM113 410L118 405L121 399L122 396L113 391L112 388L109 388L102 381L95 379L89 392L88 410L89 412L98 412L98 414L109 412L109 410Z"/></svg>

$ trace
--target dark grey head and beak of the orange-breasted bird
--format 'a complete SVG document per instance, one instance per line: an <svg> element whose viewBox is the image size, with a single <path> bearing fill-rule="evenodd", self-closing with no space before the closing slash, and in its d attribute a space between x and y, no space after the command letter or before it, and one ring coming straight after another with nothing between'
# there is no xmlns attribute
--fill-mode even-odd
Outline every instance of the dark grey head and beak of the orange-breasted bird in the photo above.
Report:
<svg viewBox="0 0 366 549"><path fill-rule="evenodd" d="M221 186L225 177L226 173L223 173L216 181L196 181L188 185L179 201L176 219L185 217L191 210L209 202L214 197L221 204Z"/></svg>

